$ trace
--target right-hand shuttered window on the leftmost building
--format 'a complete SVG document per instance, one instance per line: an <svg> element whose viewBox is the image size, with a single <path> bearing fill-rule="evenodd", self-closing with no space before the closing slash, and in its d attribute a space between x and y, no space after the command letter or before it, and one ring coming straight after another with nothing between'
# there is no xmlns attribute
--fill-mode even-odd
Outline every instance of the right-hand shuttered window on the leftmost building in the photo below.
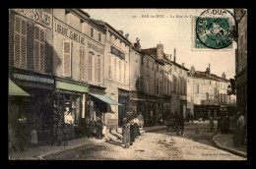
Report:
<svg viewBox="0 0 256 169"><path fill-rule="evenodd" d="M34 26L33 36L33 69L44 72L45 68L45 29Z"/></svg>

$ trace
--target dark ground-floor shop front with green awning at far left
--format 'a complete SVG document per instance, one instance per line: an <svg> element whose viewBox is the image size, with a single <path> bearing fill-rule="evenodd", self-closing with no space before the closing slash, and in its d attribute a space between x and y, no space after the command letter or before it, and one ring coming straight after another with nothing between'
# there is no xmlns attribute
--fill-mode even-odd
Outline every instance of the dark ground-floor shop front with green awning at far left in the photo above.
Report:
<svg viewBox="0 0 256 169"><path fill-rule="evenodd" d="M53 138L54 79L30 71L12 70L9 79L8 114L14 137L29 146L30 133L36 131L38 144L50 143Z"/></svg>

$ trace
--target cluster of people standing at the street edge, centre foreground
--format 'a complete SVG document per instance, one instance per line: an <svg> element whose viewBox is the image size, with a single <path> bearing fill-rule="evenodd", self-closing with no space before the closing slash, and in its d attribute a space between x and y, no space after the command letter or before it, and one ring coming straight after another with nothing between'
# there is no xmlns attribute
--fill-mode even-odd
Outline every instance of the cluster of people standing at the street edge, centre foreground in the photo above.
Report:
<svg viewBox="0 0 256 169"><path fill-rule="evenodd" d="M135 142L144 125L142 113L137 115L135 112L127 112L123 119L122 136L124 148L129 148Z"/></svg>

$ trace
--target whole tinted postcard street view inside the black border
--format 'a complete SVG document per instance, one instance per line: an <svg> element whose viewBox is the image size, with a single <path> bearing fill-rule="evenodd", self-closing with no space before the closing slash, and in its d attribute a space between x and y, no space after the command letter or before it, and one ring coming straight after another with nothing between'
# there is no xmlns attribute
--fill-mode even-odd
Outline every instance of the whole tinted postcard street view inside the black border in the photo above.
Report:
<svg viewBox="0 0 256 169"><path fill-rule="evenodd" d="M247 160L246 9L9 9L9 160Z"/></svg>

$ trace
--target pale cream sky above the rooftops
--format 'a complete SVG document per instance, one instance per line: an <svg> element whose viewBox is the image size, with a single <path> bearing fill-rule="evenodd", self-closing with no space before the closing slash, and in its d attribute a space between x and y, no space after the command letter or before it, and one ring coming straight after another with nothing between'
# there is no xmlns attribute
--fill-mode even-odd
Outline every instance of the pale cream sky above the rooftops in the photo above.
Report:
<svg viewBox="0 0 256 169"><path fill-rule="evenodd" d="M193 65L196 71L206 71L211 64L211 73L217 76L225 74L226 79L235 76L235 48L232 43L229 50L192 50L193 17L200 16L205 9L84 9L92 19L102 20L117 30L129 33L134 43L140 38L141 48L157 47L163 44L163 52L171 54L176 48L176 63L185 64L187 69ZM232 10L228 10L232 13ZM150 18L142 18L149 15ZM164 18L151 16L164 15ZM182 18L177 17L182 16ZM187 16L187 18L185 18ZM136 17L136 18L135 18Z"/></svg>

